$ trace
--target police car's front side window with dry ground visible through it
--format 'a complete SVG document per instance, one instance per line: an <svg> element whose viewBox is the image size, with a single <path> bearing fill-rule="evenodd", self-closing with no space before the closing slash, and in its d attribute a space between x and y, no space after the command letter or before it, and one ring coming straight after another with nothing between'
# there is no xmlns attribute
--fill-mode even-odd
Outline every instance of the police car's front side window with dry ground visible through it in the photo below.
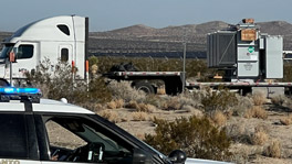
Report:
<svg viewBox="0 0 292 164"><path fill-rule="evenodd" d="M49 117L46 120L52 160L85 163L132 162L133 147L95 121L67 116ZM58 127L66 133L56 130ZM61 143L61 140L64 141Z"/></svg>

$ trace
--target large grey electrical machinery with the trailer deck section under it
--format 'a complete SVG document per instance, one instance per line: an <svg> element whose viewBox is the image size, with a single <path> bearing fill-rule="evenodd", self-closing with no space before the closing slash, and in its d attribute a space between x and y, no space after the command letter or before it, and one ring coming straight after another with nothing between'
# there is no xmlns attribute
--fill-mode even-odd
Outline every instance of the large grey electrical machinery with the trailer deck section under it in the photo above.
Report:
<svg viewBox="0 0 292 164"><path fill-rule="evenodd" d="M208 34L207 62L208 67L226 72L227 83L205 84L211 87L223 85L243 94L260 89L268 96L291 87L291 83L274 83L283 78L283 37L261 33L253 19ZM201 84L189 84L197 85Z"/></svg>

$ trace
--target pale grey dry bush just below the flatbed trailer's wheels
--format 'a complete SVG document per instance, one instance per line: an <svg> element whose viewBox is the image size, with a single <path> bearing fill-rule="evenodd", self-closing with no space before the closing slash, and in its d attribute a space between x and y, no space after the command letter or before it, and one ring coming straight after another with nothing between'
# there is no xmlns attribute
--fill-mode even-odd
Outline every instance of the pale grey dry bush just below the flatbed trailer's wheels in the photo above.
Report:
<svg viewBox="0 0 292 164"><path fill-rule="evenodd" d="M124 99L125 102L129 102L131 100L140 102L146 98L145 92L134 89L129 81L113 80L107 87L114 99Z"/></svg>

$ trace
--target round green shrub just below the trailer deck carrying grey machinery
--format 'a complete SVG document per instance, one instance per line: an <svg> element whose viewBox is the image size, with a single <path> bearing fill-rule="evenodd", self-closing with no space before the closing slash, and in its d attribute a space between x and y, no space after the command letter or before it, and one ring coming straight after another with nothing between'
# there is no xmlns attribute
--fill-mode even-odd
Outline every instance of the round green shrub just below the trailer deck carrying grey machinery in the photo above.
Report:
<svg viewBox="0 0 292 164"><path fill-rule="evenodd" d="M238 103L234 92L230 92L227 88L219 88L218 91L210 89L202 96L201 103L207 112L215 110L228 110Z"/></svg>

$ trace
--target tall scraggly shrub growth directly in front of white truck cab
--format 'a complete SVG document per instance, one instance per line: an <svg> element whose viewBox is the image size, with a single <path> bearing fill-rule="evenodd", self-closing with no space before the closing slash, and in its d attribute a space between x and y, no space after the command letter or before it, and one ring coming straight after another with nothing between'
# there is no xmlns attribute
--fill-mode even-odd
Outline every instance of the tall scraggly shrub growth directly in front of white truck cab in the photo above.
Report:
<svg viewBox="0 0 292 164"><path fill-rule="evenodd" d="M103 78L92 79L88 88L80 77L73 79L72 67L69 63L59 61L54 72L51 72L51 62L43 61L35 74L27 74L28 81L41 88L43 97L60 100L66 98L72 103L104 102L112 98L105 87ZM77 72L77 69L75 69ZM87 91L88 90L88 91Z"/></svg>

